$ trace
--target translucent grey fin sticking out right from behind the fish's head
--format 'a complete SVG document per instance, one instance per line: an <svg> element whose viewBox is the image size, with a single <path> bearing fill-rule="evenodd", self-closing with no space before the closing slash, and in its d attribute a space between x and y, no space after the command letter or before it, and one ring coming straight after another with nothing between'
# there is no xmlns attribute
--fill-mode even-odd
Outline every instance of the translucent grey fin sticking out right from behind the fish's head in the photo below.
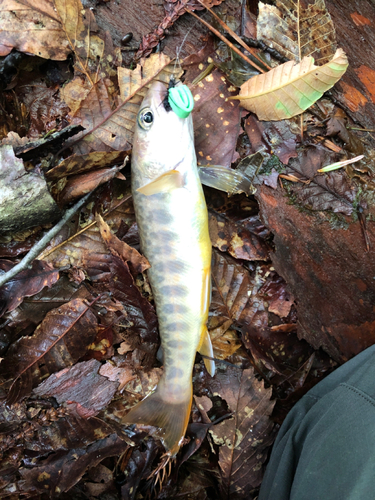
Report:
<svg viewBox="0 0 375 500"><path fill-rule="evenodd" d="M240 170L233 170L222 165L199 167L199 178L205 186L213 187L228 194L254 194L256 189L249 176Z"/></svg>

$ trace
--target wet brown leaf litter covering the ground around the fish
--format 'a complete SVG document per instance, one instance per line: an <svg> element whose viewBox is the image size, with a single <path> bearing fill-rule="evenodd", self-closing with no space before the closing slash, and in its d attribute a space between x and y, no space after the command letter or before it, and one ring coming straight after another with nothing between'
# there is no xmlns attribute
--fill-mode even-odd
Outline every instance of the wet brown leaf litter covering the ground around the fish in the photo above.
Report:
<svg viewBox="0 0 375 500"><path fill-rule="evenodd" d="M232 4L227 0L207 6L216 6L215 12L230 24L229 6L233 26L239 26ZM305 112L304 133L293 120L259 122L227 100L236 92L229 82L240 67L237 59L216 47L211 36L195 42L194 55L182 66L195 96L198 161L251 171L257 191L256 198L247 198L205 189L215 247L208 327L214 356L222 361L211 379L197 358L186 444L160 484L155 471L161 444L145 430L121 424L162 373L148 263L140 253L124 162L149 84L182 75L179 63L163 52L141 56L160 40L168 44L166 30L186 9L204 7L201 2L168 1L165 18L143 37L130 69L121 66L120 49L79 1L33 7L25 3L22 18L12 14L17 6L8 2L0 11L6 27L0 40L3 54L16 47L44 60L25 56L27 71L16 63L13 88L6 88L2 99L8 100L7 106L16 103L19 123L5 118L4 130L12 132L4 144L13 146L18 156L25 147L32 151L35 146L28 145L46 133L65 134L54 149L43 150L42 145L24 158L28 172L44 172L53 199L63 208L100 186L32 268L1 289L1 494L55 497L65 492L79 497L85 491L90 498L105 494L115 499L141 498L152 491L157 498L255 498L275 422L281 423L291 406L336 364L372 343L371 265L362 257L365 236L370 244L372 240L371 222L363 218L371 211L366 205L373 191L370 163L364 159L318 175L321 167L362 153L361 147L371 158L371 138L359 138L347 129L347 116L337 110L328 115L323 105L323 119L315 108ZM325 22L311 24L311 19ZM254 18L248 17L248 23L255 33ZM31 33L32 25L37 29ZM298 72L294 62L305 56L323 65L312 71L335 64L335 30L322 0L307 10L288 0L260 4L258 38L292 59L286 63L291 71ZM261 45L256 50L274 67L271 71L282 71L268 55L272 51L265 56ZM69 69L60 62L68 54L73 55ZM341 68L336 69L343 73L346 62L340 54ZM217 69L199 79L212 60ZM46 81L41 74L48 75ZM267 74L249 82L255 78L256 84ZM271 102L274 92L267 96ZM259 109L258 118L268 112ZM67 124L85 130L74 130L69 138ZM257 159L251 156L262 147ZM1 236L1 255L13 259L2 261L3 270L44 230L25 228ZM351 273L358 276L350 285L343 268L348 253L353 257ZM336 286L348 290L345 299ZM337 318L335 325L332 317ZM359 342L363 322L369 335Z"/></svg>

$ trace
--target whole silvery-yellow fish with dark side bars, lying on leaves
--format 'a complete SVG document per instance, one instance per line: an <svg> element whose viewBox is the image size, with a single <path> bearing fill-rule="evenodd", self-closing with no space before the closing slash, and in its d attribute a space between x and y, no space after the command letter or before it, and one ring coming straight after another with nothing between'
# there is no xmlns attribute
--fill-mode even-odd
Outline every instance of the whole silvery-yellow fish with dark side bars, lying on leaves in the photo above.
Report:
<svg viewBox="0 0 375 500"><path fill-rule="evenodd" d="M167 455L180 449L189 422L197 351L213 376L207 330L211 301L208 212L194 150L191 114L167 105L168 89L155 82L137 115L131 183L141 251L150 263L163 351L163 374L123 423L157 428ZM167 108L167 109L166 109ZM169 108L169 109L168 109Z"/></svg>

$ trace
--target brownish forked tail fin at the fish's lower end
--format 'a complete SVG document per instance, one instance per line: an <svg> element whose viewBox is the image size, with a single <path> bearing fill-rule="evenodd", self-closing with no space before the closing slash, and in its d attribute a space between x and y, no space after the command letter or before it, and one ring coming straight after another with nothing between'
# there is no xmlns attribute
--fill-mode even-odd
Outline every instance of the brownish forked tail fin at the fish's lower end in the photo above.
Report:
<svg viewBox="0 0 375 500"><path fill-rule="evenodd" d="M181 447L189 423L193 387L183 401L171 402L165 397L163 381L155 392L136 404L122 419L124 424L152 425L153 435L161 440L167 454L174 457Z"/></svg>

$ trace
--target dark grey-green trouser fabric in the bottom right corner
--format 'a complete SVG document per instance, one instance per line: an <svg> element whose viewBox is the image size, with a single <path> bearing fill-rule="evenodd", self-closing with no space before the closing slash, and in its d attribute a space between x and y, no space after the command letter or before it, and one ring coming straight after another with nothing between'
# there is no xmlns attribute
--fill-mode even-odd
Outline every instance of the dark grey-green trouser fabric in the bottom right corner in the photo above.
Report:
<svg viewBox="0 0 375 500"><path fill-rule="evenodd" d="M259 500L375 499L375 346L335 370L290 411Z"/></svg>

